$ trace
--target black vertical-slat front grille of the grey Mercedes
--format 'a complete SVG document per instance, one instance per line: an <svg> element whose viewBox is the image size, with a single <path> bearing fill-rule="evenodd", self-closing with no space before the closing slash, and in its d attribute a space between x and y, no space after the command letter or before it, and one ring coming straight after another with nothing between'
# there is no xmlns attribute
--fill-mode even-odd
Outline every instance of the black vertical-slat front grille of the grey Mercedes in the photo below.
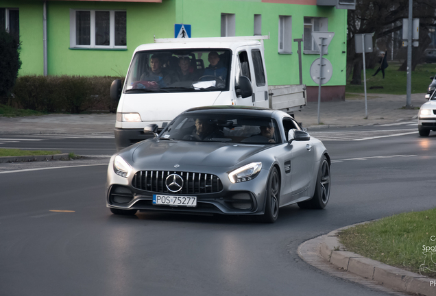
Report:
<svg viewBox="0 0 436 296"><path fill-rule="evenodd" d="M182 189L177 193L171 192L165 185L165 180L173 173L183 179ZM169 194L219 193L223 190L223 184L216 175L180 171L138 171L133 177L132 186L141 190Z"/></svg>

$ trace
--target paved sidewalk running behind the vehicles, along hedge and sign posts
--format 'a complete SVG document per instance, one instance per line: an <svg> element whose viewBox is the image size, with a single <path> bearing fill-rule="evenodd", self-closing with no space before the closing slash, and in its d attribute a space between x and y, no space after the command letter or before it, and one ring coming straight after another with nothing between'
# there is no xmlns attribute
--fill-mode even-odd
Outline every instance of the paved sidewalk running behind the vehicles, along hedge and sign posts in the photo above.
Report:
<svg viewBox="0 0 436 296"><path fill-rule="evenodd" d="M425 94L412 95L412 106L426 102ZM318 104L309 102L295 119L309 130L327 127L350 127L393 123L416 118L418 110L402 109L406 95L367 95L368 119L365 117L365 97L347 94L346 101L322 102L320 125L317 124ZM6 118L0 116L0 134L113 134L115 114L50 114Z"/></svg>

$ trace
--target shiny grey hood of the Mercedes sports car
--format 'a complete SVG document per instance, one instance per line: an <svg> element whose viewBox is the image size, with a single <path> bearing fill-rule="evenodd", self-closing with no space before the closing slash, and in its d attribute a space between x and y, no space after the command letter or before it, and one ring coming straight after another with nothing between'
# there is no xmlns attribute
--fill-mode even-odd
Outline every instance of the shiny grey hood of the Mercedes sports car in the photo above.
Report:
<svg viewBox="0 0 436 296"><path fill-rule="evenodd" d="M229 143L201 143L180 140L146 140L132 152L135 167L208 166L232 167L250 156L271 147Z"/></svg>

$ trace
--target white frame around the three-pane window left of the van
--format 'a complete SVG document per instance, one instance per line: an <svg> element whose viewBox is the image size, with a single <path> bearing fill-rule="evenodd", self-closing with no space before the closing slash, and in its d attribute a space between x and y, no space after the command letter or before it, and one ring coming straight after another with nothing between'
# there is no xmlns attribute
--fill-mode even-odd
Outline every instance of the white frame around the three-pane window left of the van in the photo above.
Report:
<svg viewBox="0 0 436 296"><path fill-rule="evenodd" d="M75 12L90 12L90 45L77 45L75 35ZM109 12L109 45L95 45L95 12ZM125 12L125 10L74 10L70 9L70 48L75 49L127 49L127 45L115 45L115 12ZM127 32L125 33L127 35Z"/></svg>

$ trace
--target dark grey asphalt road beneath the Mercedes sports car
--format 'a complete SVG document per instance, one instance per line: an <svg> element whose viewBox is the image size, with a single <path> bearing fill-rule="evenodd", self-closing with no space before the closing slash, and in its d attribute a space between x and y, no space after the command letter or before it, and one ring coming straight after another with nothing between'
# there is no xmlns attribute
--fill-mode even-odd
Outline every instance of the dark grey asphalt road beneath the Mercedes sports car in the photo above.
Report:
<svg viewBox="0 0 436 296"><path fill-rule="evenodd" d="M371 138L349 128L333 131L350 132L337 140L327 132L313 132L334 139L324 141L333 160L327 208L281 208L271 225L114 216L105 207L104 158L89 167L0 172L0 295L387 295L311 267L297 248L342 226L434 208L436 133L374 127ZM88 138L77 149L104 147L99 141L106 140Z"/></svg>

